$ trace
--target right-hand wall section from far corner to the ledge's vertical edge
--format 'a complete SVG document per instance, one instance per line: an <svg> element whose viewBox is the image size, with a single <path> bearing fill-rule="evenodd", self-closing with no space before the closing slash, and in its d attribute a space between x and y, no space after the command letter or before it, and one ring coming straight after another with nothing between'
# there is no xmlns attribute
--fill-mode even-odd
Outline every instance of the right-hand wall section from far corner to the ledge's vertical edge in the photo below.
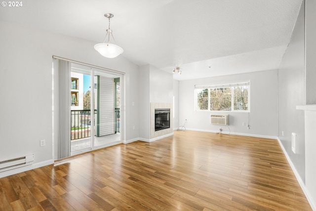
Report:
<svg viewBox="0 0 316 211"><path fill-rule="evenodd" d="M278 138L300 177L305 182L304 111L305 104L304 5L301 7L291 41L278 70ZM282 135L283 131L283 135ZM297 154L291 149L291 134L297 134Z"/></svg>

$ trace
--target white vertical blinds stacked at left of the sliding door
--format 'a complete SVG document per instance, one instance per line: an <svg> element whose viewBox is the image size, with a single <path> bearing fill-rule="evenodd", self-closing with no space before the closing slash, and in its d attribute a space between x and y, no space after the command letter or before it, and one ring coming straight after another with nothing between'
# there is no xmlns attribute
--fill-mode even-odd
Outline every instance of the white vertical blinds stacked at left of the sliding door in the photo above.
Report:
<svg viewBox="0 0 316 211"><path fill-rule="evenodd" d="M71 62L53 59L55 159L70 156Z"/></svg>

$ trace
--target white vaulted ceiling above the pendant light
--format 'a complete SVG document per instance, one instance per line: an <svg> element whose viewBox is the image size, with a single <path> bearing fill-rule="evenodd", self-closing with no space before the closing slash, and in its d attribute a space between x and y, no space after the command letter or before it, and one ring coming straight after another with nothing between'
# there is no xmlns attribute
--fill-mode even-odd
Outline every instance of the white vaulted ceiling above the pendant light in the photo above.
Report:
<svg viewBox="0 0 316 211"><path fill-rule="evenodd" d="M113 13L120 56L169 73L180 67L174 79L187 80L277 69L301 2L26 0L22 7L1 7L0 21L98 43L108 27L104 13Z"/></svg>

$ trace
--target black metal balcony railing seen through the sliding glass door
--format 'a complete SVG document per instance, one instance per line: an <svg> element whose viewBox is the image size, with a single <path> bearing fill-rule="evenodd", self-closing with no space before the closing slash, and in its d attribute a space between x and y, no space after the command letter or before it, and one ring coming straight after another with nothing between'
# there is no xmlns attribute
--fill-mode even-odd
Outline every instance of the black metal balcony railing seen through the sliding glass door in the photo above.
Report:
<svg viewBox="0 0 316 211"><path fill-rule="evenodd" d="M94 119L97 110L94 110ZM120 112L115 109L115 133L119 132ZM71 110L71 140L91 136L91 112L90 110Z"/></svg>

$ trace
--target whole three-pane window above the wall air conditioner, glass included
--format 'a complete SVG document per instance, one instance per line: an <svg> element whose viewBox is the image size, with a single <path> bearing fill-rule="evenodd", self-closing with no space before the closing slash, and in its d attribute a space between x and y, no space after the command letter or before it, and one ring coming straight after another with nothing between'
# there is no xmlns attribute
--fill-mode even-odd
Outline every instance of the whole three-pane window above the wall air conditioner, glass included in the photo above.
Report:
<svg viewBox="0 0 316 211"><path fill-rule="evenodd" d="M196 85L196 110L249 111L250 82Z"/></svg>

